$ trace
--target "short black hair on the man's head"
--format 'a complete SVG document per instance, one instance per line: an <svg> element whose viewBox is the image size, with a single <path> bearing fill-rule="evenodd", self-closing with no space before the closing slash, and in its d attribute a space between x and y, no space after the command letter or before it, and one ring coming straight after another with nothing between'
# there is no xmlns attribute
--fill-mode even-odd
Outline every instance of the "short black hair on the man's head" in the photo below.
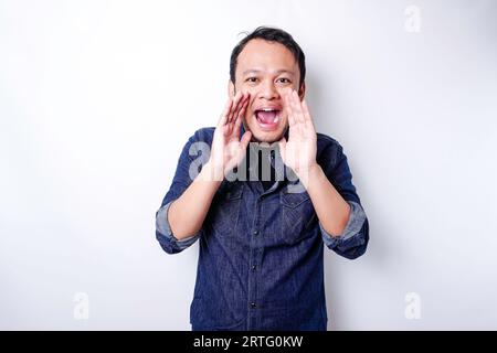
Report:
<svg viewBox="0 0 497 353"><path fill-rule="evenodd" d="M245 32L246 33L246 32ZM245 47L246 43L251 40L261 39L267 42L276 42L285 45L292 54L294 54L295 61L298 63L298 68L300 71L300 82L298 83L298 88L300 88L304 79L306 78L306 56L304 55L300 46L295 42L292 35L281 29L269 28L269 26L258 26L252 33L247 33L246 36L236 44L236 46L231 52L230 58L230 79L235 83L235 71L240 53Z"/></svg>

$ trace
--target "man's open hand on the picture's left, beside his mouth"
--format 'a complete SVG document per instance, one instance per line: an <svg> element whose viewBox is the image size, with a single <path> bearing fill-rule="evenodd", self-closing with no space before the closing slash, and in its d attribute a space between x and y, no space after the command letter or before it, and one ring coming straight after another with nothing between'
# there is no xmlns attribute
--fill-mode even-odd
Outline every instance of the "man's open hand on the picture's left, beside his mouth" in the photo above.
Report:
<svg viewBox="0 0 497 353"><path fill-rule="evenodd" d="M213 180L222 181L245 157L252 133L246 131L240 139L240 130L248 100L248 93L239 92L226 101L214 130L211 156L208 162L211 167Z"/></svg>

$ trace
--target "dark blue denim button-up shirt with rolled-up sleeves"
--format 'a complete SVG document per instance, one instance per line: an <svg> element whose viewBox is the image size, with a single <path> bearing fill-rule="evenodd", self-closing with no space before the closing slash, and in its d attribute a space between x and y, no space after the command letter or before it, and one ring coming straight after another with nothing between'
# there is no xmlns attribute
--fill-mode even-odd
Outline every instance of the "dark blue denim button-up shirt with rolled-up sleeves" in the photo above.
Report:
<svg viewBox="0 0 497 353"><path fill-rule="evenodd" d="M200 243L192 330L326 330L324 245L353 259L369 240L368 220L341 146L317 133L317 162L351 206L341 235L326 233L309 194L295 192L298 180L285 173L266 191L258 180L224 179L202 228L178 240L167 211L192 182L192 170L209 158L209 150L195 142L210 147L213 132L203 128L188 140L156 213L156 237L166 253Z"/></svg>

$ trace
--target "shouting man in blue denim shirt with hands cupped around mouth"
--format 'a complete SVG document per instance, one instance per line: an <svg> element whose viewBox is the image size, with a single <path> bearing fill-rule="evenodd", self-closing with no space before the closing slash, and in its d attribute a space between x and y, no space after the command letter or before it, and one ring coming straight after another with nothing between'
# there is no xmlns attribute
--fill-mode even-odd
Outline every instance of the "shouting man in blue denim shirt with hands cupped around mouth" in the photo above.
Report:
<svg viewBox="0 0 497 353"><path fill-rule="evenodd" d="M324 245L357 258L369 240L347 158L316 133L305 55L288 33L244 38L228 88L218 126L189 139L156 213L167 253L200 242L192 329L326 330Z"/></svg>

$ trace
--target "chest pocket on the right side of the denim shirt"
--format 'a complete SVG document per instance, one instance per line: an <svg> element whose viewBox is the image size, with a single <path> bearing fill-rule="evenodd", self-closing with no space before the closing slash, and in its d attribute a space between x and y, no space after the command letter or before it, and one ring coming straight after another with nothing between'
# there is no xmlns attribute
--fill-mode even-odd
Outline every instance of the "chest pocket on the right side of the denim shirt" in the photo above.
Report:
<svg viewBox="0 0 497 353"><path fill-rule="evenodd" d="M317 221L317 216L309 194L307 192L289 193L283 190L279 203L283 242L293 245L311 235L309 229Z"/></svg>

